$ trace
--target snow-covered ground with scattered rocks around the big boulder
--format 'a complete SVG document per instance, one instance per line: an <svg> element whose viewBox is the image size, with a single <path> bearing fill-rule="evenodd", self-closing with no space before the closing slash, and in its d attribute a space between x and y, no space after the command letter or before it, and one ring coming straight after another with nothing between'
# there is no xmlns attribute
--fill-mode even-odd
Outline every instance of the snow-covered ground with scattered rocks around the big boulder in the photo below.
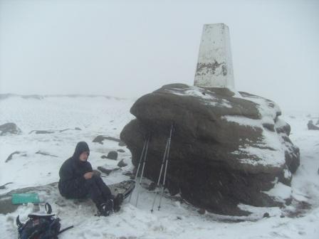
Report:
<svg viewBox="0 0 319 239"><path fill-rule="evenodd" d="M130 151L114 141L105 140L104 144L92 141L100 134L119 138L122 127L134 118L130 115L133 102L84 96L43 97L41 100L13 96L0 100L0 124L14 122L22 130L20 135L0 137L0 186L13 183L0 189L0 194L58 181L59 167L73 154L79 141L88 142L89 160L95 169L97 166L113 167L120 159L127 162L122 170L103 177L106 184L128 179L122 173L132 169ZM253 208L241 205L253 212L247 217L200 215L187 203L164 197L161 211L151 213L155 193L140 188L133 193L131 203L125 201L119 213L99 218L94 216L92 203L70 203L71 206L62 208L56 203L61 196L53 193L46 200L62 219L62 227L74 225L59 238L319 238L319 131L307 129L310 117L318 117L318 112L283 112L281 117L291 124L291 140L300 147L301 155L300 167L293 176L291 206ZM81 130L74 130L75 127ZM59 132L63 129L68 130ZM55 132L35 134L30 133L32 130ZM119 152L117 161L100 158L117 149L125 150ZM5 162L16 151L21 154L14 154ZM38 151L53 156L36 154ZM281 188L277 189L280 194ZM140 191L140 199L136 207L137 191ZM31 205L20 206L14 213L0 214L0 238L17 238L14 219L19 214L21 221L26 220L31 210ZM269 213L270 217L263 218L264 213Z"/></svg>

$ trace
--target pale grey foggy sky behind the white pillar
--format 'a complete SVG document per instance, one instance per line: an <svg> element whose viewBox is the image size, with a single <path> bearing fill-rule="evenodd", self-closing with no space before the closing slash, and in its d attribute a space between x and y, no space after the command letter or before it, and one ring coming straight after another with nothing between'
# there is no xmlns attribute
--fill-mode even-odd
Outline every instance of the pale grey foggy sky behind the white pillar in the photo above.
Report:
<svg viewBox="0 0 319 239"><path fill-rule="evenodd" d="M0 93L140 97L193 85L226 23L236 90L319 112L319 1L0 0Z"/></svg>

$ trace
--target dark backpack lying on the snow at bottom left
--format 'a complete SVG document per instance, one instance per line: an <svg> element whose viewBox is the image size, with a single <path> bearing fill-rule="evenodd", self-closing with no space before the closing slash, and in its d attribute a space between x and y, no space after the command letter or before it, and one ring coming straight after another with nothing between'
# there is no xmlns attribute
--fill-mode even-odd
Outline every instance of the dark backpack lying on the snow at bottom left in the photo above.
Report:
<svg viewBox="0 0 319 239"><path fill-rule="evenodd" d="M57 239L58 234L73 228L73 226L70 226L60 230L61 219L51 212L50 204L46 203L46 214L28 214L26 223L21 223L19 216L17 216L16 225L18 225L19 239Z"/></svg>

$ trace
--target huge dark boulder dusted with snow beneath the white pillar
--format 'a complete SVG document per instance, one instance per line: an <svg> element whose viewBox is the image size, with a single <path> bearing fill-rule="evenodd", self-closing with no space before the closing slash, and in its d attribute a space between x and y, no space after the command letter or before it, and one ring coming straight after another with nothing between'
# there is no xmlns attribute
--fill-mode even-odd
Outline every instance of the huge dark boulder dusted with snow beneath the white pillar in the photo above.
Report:
<svg viewBox="0 0 319 239"><path fill-rule="evenodd" d="M226 88L164 85L138 99L120 134L137 166L151 134L145 176L157 181L169 129L167 188L215 213L244 215L239 203L282 206L291 199L299 149L276 103ZM276 190L277 189L277 190ZM282 192L282 193L278 193Z"/></svg>

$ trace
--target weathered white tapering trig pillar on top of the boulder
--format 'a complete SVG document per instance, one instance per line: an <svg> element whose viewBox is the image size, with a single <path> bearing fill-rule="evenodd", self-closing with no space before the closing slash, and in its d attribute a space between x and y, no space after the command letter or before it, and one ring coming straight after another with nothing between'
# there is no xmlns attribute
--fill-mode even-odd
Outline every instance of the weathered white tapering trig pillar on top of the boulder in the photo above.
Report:
<svg viewBox="0 0 319 239"><path fill-rule="evenodd" d="M224 23L204 25L194 85L235 90L229 28Z"/></svg>

